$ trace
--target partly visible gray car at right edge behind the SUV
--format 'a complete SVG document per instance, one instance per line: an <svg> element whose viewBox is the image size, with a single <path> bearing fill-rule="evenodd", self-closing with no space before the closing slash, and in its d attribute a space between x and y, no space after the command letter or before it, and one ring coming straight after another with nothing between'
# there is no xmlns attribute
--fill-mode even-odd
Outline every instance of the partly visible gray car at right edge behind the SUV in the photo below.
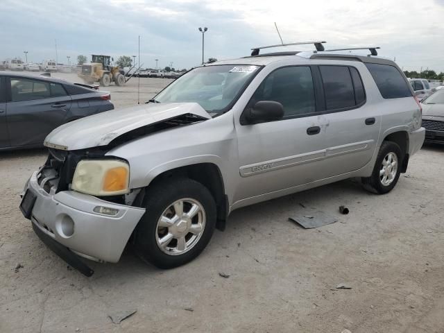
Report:
<svg viewBox="0 0 444 333"><path fill-rule="evenodd" d="M436 90L421 102L425 141L444 144L444 89Z"/></svg>

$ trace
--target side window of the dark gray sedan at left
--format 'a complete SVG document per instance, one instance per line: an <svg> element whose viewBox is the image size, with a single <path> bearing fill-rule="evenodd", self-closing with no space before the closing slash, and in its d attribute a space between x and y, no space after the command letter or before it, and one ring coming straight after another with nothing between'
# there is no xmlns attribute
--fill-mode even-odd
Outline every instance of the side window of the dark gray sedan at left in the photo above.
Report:
<svg viewBox="0 0 444 333"><path fill-rule="evenodd" d="M51 96L49 83L28 78L11 78L12 102L47 99Z"/></svg>

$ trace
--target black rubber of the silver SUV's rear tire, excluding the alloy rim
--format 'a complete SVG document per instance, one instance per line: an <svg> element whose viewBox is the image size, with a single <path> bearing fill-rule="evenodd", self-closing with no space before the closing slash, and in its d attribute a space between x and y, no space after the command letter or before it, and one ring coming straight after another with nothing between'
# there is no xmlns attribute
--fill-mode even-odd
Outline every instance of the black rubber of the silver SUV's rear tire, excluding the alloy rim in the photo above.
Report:
<svg viewBox="0 0 444 333"><path fill-rule="evenodd" d="M382 182L384 174L380 176L380 173L383 172L382 169L384 163L387 164L387 160L390 158L389 157L390 153L394 154L397 159L396 173L395 176L393 177L393 180L391 180L389 184L384 185ZM379 148L379 153L377 154L377 159L375 162L375 167L373 168L372 176L367 178L361 178L361 182L362 185L364 185L364 189L367 189L368 191L371 191L375 194L386 194L389 191L391 191L398 182L398 179L400 178L403 157L404 155L402 154L401 148L400 146L398 146L398 144L391 141L382 142L381 148Z"/></svg>

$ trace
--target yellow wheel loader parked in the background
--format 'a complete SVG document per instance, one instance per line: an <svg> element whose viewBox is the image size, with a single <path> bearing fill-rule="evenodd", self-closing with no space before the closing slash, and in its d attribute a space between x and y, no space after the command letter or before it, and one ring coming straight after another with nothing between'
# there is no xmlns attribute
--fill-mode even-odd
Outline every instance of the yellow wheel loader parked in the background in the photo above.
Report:
<svg viewBox="0 0 444 333"><path fill-rule="evenodd" d="M112 82L119 86L124 85L125 76L121 74L119 67L112 66L110 60L110 56L93 54L91 63L82 65L82 71L78 76L83 78L88 85L95 82L100 82L103 87L108 87Z"/></svg>

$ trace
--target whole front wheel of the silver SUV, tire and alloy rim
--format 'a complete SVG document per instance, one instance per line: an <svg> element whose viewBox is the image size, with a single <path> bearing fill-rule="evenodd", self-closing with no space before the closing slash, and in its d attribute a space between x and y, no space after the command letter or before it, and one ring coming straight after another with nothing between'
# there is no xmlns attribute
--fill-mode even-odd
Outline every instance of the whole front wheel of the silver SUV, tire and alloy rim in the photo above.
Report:
<svg viewBox="0 0 444 333"><path fill-rule="evenodd" d="M158 268L190 262L207 246L216 225L216 203L195 180L173 178L148 187L146 213L135 230L135 249Z"/></svg>

